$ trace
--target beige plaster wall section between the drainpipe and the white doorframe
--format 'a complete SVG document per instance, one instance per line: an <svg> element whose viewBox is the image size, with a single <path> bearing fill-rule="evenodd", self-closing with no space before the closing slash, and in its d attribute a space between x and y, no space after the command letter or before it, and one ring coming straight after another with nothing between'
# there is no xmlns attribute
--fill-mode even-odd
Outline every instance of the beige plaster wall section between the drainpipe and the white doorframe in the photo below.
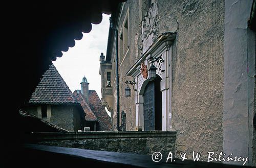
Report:
<svg viewBox="0 0 256 168"><path fill-rule="evenodd" d="M122 64L120 65L122 59L119 59L119 94L120 94L120 125L121 125L121 111L124 111L126 113L126 129L127 131L135 130L136 128L136 110L135 110L135 103L134 103L134 97L135 97L135 91L131 87L131 97L125 98L125 92L124 89L126 88L126 84L124 83L126 80L134 80L132 77L126 76L126 72L130 69L130 67L135 63L136 58L138 57L138 44L135 42L138 40L138 34L140 34L140 28L139 28L139 1L127 1L124 4L123 12L121 13L120 20L119 20L119 27L118 30L121 30L126 11L129 7L129 52L127 53L127 56L124 58ZM118 31L118 34L120 33ZM119 45L120 47L120 45ZM119 58L122 58L123 56L119 53ZM113 90L115 90L113 88ZM114 91L116 92L116 91ZM116 101L114 101L116 102ZM114 105L116 106L116 105Z"/></svg>

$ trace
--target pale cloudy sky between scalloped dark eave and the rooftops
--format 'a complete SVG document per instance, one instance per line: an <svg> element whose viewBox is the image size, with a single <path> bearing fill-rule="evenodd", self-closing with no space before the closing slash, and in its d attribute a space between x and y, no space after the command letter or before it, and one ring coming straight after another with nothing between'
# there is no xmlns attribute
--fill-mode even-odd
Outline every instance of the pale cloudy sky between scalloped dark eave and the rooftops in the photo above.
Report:
<svg viewBox="0 0 256 168"><path fill-rule="evenodd" d="M62 57L57 57L56 61L52 61L72 92L81 89L80 82L85 76L90 83L89 90L96 90L101 99L99 56L100 53L106 54L110 16L102 14L101 23L92 24L91 32L83 33L81 40L75 40L75 46L69 47L67 52L62 52Z"/></svg>

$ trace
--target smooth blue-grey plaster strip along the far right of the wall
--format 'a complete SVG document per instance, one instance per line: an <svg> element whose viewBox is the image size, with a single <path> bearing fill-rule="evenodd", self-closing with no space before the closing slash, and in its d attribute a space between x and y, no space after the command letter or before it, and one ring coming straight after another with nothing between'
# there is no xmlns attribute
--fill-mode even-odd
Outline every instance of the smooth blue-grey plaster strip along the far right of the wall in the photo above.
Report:
<svg viewBox="0 0 256 168"><path fill-rule="evenodd" d="M247 63L250 76L255 64L255 32L247 29L251 4L251 0L225 1L223 151L249 157L247 165L252 163L255 108L254 79L247 77Z"/></svg>

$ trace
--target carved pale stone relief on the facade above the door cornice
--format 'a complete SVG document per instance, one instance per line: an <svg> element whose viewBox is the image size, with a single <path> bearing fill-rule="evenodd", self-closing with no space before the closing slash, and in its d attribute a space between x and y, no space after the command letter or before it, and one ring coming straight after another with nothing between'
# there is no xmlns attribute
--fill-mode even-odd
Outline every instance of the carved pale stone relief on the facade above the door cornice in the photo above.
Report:
<svg viewBox="0 0 256 168"><path fill-rule="evenodd" d="M158 10L155 3L152 3L142 20L141 26L141 55L152 45L158 37Z"/></svg>

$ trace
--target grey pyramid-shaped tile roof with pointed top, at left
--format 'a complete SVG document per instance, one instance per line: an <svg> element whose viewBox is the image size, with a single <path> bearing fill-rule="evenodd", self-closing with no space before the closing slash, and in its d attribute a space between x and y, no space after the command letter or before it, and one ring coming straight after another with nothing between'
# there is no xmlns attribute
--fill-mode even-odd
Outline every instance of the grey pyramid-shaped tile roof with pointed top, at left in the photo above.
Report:
<svg viewBox="0 0 256 168"><path fill-rule="evenodd" d="M45 72L29 100L32 104L78 103L66 82L52 64Z"/></svg>

